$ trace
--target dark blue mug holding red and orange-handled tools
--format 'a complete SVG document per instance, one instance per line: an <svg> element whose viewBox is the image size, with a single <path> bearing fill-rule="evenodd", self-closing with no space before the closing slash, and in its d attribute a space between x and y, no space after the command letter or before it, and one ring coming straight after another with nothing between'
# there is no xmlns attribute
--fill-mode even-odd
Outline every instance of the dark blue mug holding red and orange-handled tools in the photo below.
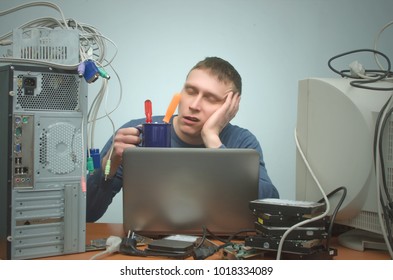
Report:
<svg viewBox="0 0 393 280"><path fill-rule="evenodd" d="M172 124L144 123L139 131L142 135L142 147L171 147Z"/></svg>

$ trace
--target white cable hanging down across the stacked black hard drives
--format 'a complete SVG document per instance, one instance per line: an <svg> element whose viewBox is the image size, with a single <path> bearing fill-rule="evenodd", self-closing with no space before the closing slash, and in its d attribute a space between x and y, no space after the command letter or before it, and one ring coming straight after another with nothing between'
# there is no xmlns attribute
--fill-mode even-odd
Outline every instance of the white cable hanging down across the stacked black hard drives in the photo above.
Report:
<svg viewBox="0 0 393 280"><path fill-rule="evenodd" d="M323 212L321 215L318 215L318 216L316 216L316 217L313 217L313 218L310 218L310 219L301 221L301 222L299 222L299 223L297 223L297 224L291 226L289 229L287 229L287 230L285 231L285 233L284 233L283 236L281 237L280 243L279 243L279 245L278 245L277 257L276 257L277 260L279 260L279 259L281 258L282 247L283 247L283 245L284 245L285 239L287 238L288 234L289 234L292 230L294 230L294 229L297 228L297 227L301 227L301 226L303 226L303 225L305 225L305 224L308 224L308 223L310 223L310 222L313 222L313 221L317 221L317 220L319 220L319 219L322 219L323 217L327 216L327 215L329 214L329 212L330 212L330 202L329 202L329 199L328 199L328 197L326 196L326 193L325 193L325 191L323 190L321 184L319 183L318 178L315 176L315 174L314 174L312 168L310 167L310 164L308 163L308 160L307 160L306 156L304 155L302 148L300 147L299 140L298 140L298 138L297 138L296 128L295 128L294 135L295 135L296 147L297 147L297 149L298 149L298 151L299 151L299 154L301 155L304 164L306 165L308 171L310 172L312 178L314 179L315 183L317 184L319 190L320 190L321 193L322 193L323 199L325 200L325 203L326 203L326 209L325 209L325 212Z"/></svg>

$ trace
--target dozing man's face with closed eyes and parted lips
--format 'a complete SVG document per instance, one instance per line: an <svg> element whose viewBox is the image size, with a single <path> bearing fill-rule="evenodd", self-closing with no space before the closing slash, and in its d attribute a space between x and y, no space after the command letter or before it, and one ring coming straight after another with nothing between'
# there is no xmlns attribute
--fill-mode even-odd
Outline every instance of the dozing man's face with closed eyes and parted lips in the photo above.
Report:
<svg viewBox="0 0 393 280"><path fill-rule="evenodd" d="M209 117L225 102L232 83L224 83L207 70L192 70L181 91L175 129L189 144L202 144L201 130Z"/></svg>

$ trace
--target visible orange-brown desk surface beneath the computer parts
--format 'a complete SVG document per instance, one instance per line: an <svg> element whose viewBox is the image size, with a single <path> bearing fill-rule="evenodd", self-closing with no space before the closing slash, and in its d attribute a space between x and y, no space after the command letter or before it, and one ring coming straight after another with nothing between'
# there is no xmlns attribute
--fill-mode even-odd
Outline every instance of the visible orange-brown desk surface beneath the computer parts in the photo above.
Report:
<svg viewBox="0 0 393 280"><path fill-rule="evenodd" d="M110 224L110 223L88 223L86 226L86 244L90 244L91 240L107 238L111 235L124 236L122 224ZM351 250L340 245L337 245L335 239L332 240L332 247L338 250L338 254L334 259L336 260L390 260L388 252L378 250L366 250L359 252ZM90 251L85 253L61 255L54 257L46 257L41 259L48 260L88 260L100 251ZM130 260L130 259L144 259L141 257L127 256L120 253L107 255L104 257L105 260ZM148 259L162 259L159 257L149 257ZM191 257L189 259L192 259ZM221 259L220 254L213 255L209 259Z"/></svg>

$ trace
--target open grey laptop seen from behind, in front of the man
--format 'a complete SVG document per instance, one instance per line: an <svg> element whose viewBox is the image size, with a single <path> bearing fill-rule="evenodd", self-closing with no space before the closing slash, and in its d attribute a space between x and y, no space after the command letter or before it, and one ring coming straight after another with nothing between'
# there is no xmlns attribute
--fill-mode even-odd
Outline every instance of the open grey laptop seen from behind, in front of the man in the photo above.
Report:
<svg viewBox="0 0 393 280"><path fill-rule="evenodd" d="M123 226L147 237L254 229L259 154L253 149L129 148Z"/></svg>

